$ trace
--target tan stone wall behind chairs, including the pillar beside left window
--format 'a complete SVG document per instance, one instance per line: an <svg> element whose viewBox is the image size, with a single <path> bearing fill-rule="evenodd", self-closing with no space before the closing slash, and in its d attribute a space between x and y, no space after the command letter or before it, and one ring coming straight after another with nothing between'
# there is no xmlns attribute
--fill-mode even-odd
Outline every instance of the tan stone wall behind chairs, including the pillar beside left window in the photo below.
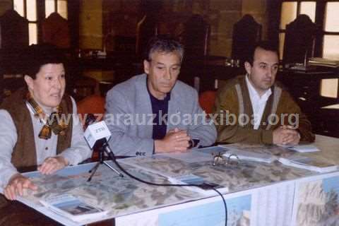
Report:
<svg viewBox="0 0 339 226"><path fill-rule="evenodd" d="M246 13L263 25L267 37L268 0L163 0L158 13L158 32L174 32L173 24L184 23L192 15L203 16L210 25L208 54L230 57L232 27ZM114 50L115 36L136 37L136 25L143 17L143 0L81 1L80 47L102 49L104 42Z"/></svg>

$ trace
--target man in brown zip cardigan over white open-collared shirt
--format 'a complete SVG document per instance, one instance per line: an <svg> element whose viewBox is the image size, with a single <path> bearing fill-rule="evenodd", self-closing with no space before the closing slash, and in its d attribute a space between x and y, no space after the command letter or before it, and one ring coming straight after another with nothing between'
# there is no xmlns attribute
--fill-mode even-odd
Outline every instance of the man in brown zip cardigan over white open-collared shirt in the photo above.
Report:
<svg viewBox="0 0 339 226"><path fill-rule="evenodd" d="M238 76L218 90L215 124L218 142L298 144L314 141L311 124L297 103L275 82L278 49L259 42Z"/></svg>

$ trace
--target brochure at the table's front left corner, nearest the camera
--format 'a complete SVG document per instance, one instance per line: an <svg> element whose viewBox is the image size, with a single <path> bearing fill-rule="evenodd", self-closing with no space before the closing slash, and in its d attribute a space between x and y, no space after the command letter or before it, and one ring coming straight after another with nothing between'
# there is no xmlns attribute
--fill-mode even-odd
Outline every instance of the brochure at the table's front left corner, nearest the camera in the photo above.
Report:
<svg viewBox="0 0 339 226"><path fill-rule="evenodd" d="M75 222L102 218L107 214L107 211L90 205L89 203L85 203L84 201L81 201L80 198L76 198L70 194L52 196L45 200L41 200L40 203L54 211L54 213Z"/></svg>

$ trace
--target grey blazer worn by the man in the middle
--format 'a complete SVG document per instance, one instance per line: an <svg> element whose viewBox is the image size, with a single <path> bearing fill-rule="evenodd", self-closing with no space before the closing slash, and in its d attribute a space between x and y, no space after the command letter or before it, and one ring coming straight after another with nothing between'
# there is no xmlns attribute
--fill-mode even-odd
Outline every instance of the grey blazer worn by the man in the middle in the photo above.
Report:
<svg viewBox="0 0 339 226"><path fill-rule="evenodd" d="M105 122L111 131L109 146L116 155L152 155L153 112L146 85L146 74L115 85L106 97ZM198 145L212 145L217 132L198 104L198 93L177 81L168 105L167 131L186 130Z"/></svg>

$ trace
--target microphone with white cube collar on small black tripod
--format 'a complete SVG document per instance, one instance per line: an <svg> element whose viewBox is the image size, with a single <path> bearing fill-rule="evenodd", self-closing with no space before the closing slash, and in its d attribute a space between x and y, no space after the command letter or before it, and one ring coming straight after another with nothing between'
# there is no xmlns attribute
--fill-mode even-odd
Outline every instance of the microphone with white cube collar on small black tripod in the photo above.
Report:
<svg viewBox="0 0 339 226"><path fill-rule="evenodd" d="M105 153L113 160L115 161L115 156L111 148L109 148L109 145L107 141L111 137L111 132L109 131L107 125L105 124L105 121L98 121L95 122L96 119L93 114L88 114L87 119L85 120L85 124L88 125L87 129L85 130L85 133L83 133L83 136L85 137L85 140L87 141L90 148L98 148L98 150L102 151L104 150ZM101 162L102 160L100 160ZM115 172L117 172L116 169L110 167ZM124 177L123 174L120 172L117 172L120 177Z"/></svg>

